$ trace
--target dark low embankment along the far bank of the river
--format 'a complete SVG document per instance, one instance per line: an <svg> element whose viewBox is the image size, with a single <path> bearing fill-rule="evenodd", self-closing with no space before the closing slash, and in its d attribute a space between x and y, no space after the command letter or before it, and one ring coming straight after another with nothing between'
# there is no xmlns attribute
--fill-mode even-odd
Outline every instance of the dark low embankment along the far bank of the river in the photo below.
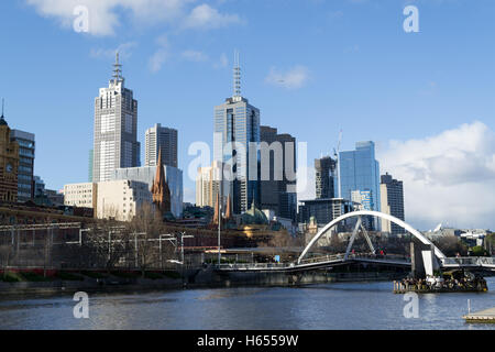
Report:
<svg viewBox="0 0 495 352"><path fill-rule="evenodd" d="M84 280L50 282L0 282L0 296L41 296L87 293L133 293L143 290L166 290L201 287L241 286L302 286L336 282L394 280L402 278L397 273L330 273L315 271L305 273L271 272L216 272L212 268L188 270L178 278L122 278L109 276L105 279L85 277Z"/></svg>

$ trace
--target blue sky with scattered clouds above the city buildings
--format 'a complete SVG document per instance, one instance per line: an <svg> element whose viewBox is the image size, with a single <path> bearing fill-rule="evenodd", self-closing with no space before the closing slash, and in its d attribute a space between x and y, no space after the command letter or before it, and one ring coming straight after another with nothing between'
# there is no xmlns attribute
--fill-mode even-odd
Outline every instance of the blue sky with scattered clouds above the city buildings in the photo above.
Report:
<svg viewBox="0 0 495 352"><path fill-rule="evenodd" d="M89 8L89 33L73 30L77 4ZM419 10L419 33L403 30L407 4ZM411 165L422 167L405 184L406 217L417 227L495 228L495 204L468 215L465 202L449 198L482 185L491 190L480 195L495 198L492 0L16 0L1 1L0 13L6 118L36 134L35 174L50 188L87 180L94 99L108 84L117 48L140 103L142 148L154 123L178 129L184 170L190 143L212 143L213 107L232 92L239 50L243 96L261 109L262 124L308 142L310 164L332 151L342 129L343 150L376 142L383 173L406 182ZM452 133L464 146L446 151ZM422 148L413 147L415 141ZM453 164L472 153L481 163L473 167L486 175L459 170L447 185L439 164L428 164L440 154L420 157L435 147L451 153ZM420 194L426 187L447 197L432 216L420 211L418 198L431 194ZM186 200L194 200L187 177L185 188Z"/></svg>

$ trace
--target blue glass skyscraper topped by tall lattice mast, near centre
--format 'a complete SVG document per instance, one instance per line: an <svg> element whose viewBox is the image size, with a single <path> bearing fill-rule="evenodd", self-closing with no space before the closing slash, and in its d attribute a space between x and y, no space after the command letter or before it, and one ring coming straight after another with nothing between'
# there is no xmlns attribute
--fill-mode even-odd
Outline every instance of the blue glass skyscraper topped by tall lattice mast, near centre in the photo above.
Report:
<svg viewBox="0 0 495 352"><path fill-rule="evenodd" d="M241 96L241 68L235 54L234 91L232 98L215 108L213 160L227 163L234 177L229 194L233 213L248 211L254 201L260 205L257 164L260 153L250 151L250 143L260 143L260 110ZM222 204L227 195L222 195ZM224 209L224 208L223 208Z"/></svg>

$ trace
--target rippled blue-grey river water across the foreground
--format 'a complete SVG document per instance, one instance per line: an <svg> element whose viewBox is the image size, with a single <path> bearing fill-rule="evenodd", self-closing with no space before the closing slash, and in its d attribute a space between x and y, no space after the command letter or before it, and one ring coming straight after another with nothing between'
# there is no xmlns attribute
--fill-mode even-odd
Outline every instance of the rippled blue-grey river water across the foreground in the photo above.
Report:
<svg viewBox="0 0 495 352"><path fill-rule="evenodd" d="M74 318L72 296L0 300L0 329L495 329L462 319L468 299L473 311L495 307L487 283L484 294L419 295L417 318L392 283L95 294L88 319Z"/></svg>

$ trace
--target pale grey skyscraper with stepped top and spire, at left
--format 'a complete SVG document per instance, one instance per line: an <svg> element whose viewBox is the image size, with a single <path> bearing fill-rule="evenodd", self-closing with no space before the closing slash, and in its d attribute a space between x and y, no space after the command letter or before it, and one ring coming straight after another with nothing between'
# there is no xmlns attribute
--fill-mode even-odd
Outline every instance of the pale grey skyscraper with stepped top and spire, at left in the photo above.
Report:
<svg viewBox="0 0 495 352"><path fill-rule="evenodd" d="M113 79L95 100L95 183L111 179L116 168L140 166L138 101L124 87L119 53L113 67Z"/></svg>

